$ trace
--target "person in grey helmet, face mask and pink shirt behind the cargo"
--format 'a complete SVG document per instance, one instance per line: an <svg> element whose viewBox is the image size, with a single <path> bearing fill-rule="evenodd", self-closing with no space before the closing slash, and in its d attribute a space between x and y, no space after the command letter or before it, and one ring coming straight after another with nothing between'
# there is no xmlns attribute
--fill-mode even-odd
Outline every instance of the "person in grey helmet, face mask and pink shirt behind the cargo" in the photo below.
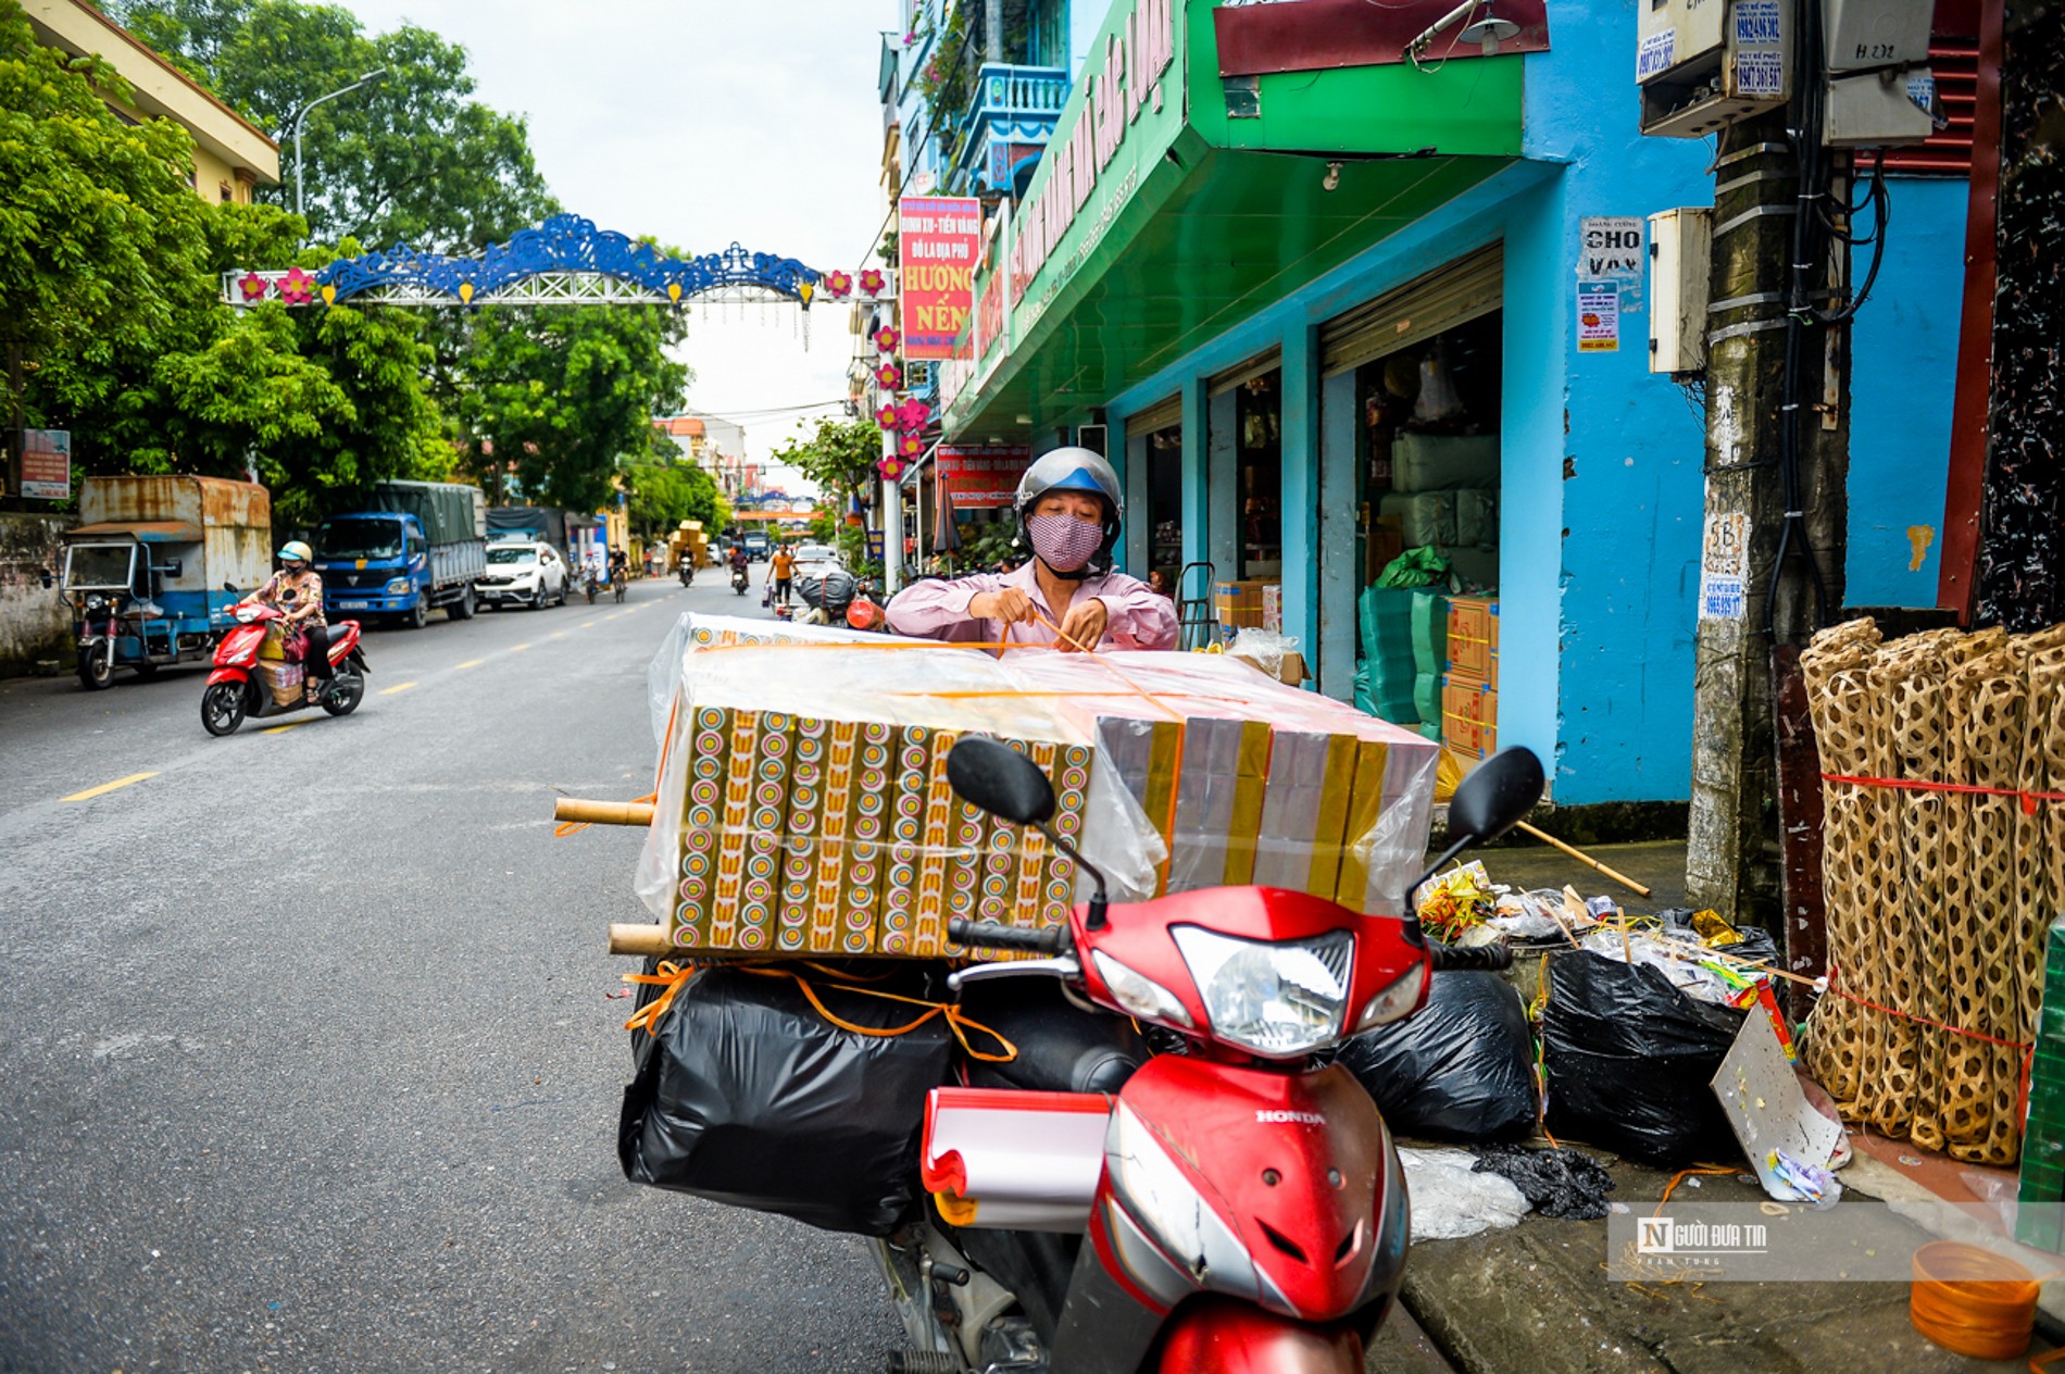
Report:
<svg viewBox="0 0 2065 1374"><path fill-rule="evenodd" d="M1125 496L1103 457L1088 448L1043 455L1018 481L1016 506L1032 558L1012 572L913 583L890 601L890 630L1061 653L1175 649L1169 597L1111 568Z"/></svg>

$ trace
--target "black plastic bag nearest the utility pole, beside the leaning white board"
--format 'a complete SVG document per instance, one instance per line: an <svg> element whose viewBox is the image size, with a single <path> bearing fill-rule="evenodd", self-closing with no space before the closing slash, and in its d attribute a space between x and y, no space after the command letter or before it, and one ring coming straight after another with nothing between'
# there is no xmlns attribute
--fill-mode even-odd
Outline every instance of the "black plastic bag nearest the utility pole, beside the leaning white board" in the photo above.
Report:
<svg viewBox="0 0 2065 1374"><path fill-rule="evenodd" d="M1592 950L1549 961L1549 1134L1652 1163L1739 1159L1712 1081L1743 1012L1689 998L1662 969Z"/></svg>

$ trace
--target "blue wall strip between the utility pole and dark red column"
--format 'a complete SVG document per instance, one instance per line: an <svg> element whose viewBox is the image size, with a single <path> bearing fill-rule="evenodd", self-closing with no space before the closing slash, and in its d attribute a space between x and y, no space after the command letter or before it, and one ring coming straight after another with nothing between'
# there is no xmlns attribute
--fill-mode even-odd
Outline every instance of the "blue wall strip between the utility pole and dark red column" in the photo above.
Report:
<svg viewBox="0 0 2065 1374"><path fill-rule="evenodd" d="M1850 605L1935 605L1964 298L1964 178L1887 178L1885 262L1850 326ZM1863 277L1865 252L1852 275ZM1927 531L1920 566L1910 527Z"/></svg>

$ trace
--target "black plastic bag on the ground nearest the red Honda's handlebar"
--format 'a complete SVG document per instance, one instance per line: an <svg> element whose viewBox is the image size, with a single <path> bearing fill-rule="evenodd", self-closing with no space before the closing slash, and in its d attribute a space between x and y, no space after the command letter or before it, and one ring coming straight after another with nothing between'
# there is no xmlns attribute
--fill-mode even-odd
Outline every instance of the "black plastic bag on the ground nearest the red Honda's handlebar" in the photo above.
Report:
<svg viewBox="0 0 2065 1374"><path fill-rule="evenodd" d="M1491 1143L1534 1134L1534 1035L1497 973L1435 973L1427 1006L1336 1056L1408 1136Z"/></svg>

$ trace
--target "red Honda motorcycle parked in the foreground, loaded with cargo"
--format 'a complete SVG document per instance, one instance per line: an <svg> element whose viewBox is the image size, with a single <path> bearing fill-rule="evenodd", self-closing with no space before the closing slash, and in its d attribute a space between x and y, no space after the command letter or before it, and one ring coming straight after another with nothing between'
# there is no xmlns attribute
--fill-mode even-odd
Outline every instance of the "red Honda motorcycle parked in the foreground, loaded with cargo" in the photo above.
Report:
<svg viewBox="0 0 2065 1374"><path fill-rule="evenodd" d="M1045 829L1053 816L1045 775L995 740L956 744L948 777L1004 820ZM1454 855L1512 829L1540 787L1526 750L1485 760L1450 802L1454 843L1404 909ZM1082 868L1097 895L1066 928L948 926L968 948L1043 959L948 981L1057 977L1070 1002L1113 1012L1097 1021L1158 1027L1165 1052L1127 1064L1115 1093L933 1089L921 1161L931 1207L876 1242L917 1347L900 1368L1359 1372L1404 1275L1408 1205L1375 1103L1320 1056L1410 1017L1431 973L1503 969L1512 953L1429 944L1417 915L1280 888L1111 909L1103 876ZM1074 1048L1020 1039L1020 1058L1068 1079L1068 1056L1086 1060L1080 1033L1061 1041Z"/></svg>

